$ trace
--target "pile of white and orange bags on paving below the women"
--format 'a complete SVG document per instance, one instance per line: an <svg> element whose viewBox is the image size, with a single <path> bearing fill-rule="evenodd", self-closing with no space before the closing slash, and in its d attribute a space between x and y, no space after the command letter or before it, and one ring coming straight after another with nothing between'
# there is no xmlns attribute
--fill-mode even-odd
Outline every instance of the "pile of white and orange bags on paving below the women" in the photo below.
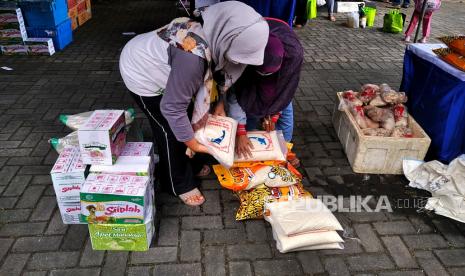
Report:
<svg viewBox="0 0 465 276"><path fill-rule="evenodd" d="M226 162L213 166L220 184L240 200L236 220L265 218L281 253L342 249L344 240L336 231L343 228L323 202L305 190L302 175L286 161L295 157L292 144L280 142L284 141L282 133L276 131L247 135L254 145L251 158L239 159L232 151L228 153L234 157L231 166Z"/></svg>

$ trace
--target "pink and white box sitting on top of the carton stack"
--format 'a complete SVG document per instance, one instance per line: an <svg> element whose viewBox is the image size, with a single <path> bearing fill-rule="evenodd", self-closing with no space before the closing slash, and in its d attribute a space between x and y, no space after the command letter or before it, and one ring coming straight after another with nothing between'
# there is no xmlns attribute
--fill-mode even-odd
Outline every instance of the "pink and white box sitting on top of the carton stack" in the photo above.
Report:
<svg viewBox="0 0 465 276"><path fill-rule="evenodd" d="M113 165L126 145L124 110L96 110L78 129L82 161Z"/></svg>

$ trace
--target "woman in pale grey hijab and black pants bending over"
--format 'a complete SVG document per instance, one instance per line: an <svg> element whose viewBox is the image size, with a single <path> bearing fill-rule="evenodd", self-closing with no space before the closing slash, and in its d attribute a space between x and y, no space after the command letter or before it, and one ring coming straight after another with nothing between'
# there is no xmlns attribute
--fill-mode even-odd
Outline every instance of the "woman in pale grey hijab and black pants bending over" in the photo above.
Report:
<svg viewBox="0 0 465 276"><path fill-rule="evenodd" d="M207 153L194 138L211 110L225 115L213 82L226 91L247 65L261 65L269 27L251 7L228 1L201 11L203 24L189 18L131 39L121 52L120 72L135 102L149 119L160 156L159 181L187 205L205 201L195 175L210 169L186 156ZM193 98L195 102L193 103ZM203 167L202 167L203 166Z"/></svg>

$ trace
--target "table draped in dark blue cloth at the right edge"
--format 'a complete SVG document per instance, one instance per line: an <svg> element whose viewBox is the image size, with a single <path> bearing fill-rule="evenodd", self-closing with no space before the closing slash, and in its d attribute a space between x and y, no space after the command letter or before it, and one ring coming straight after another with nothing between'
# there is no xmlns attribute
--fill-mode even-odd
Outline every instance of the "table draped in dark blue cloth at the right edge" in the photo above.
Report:
<svg viewBox="0 0 465 276"><path fill-rule="evenodd" d="M409 97L409 112L431 137L428 158L448 163L465 153L465 72L433 53L442 47L407 47L400 90Z"/></svg>

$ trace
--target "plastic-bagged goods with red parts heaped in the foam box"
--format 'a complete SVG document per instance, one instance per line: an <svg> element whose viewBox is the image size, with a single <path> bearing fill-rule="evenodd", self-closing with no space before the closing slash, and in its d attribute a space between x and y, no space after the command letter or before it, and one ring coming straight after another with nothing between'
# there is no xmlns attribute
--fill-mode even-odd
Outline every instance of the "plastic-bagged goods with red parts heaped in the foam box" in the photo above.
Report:
<svg viewBox="0 0 465 276"><path fill-rule="evenodd" d="M387 84L365 84L361 92L345 91L342 97L339 110L349 110L364 135L413 137L404 92L396 92Z"/></svg>

